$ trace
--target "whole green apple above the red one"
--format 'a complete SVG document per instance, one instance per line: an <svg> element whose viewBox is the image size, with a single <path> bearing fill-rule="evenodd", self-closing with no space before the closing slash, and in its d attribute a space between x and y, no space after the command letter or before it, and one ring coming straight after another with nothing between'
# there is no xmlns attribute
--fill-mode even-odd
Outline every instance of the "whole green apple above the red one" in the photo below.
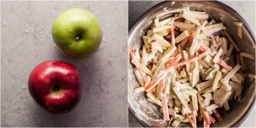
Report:
<svg viewBox="0 0 256 128"><path fill-rule="evenodd" d="M101 45L101 24L85 9L68 9L54 21L52 38L62 53L75 59L89 58Z"/></svg>

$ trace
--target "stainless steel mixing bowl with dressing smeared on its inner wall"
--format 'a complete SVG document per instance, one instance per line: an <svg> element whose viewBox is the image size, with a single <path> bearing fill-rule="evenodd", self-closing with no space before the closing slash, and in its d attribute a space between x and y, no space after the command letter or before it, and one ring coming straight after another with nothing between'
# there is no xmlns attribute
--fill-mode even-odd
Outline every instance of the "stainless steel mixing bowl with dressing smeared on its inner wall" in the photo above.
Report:
<svg viewBox="0 0 256 128"><path fill-rule="evenodd" d="M152 19L158 17L160 20L170 17L174 9L190 7L197 11L206 11L210 17L218 22L223 22L233 40L237 43L242 52L248 52L255 55L255 32L245 19L238 14L234 9L218 1L172 1L162 2L148 11L146 11L133 25L129 31L128 48L140 48L143 44L142 36L145 35L152 24ZM244 23L243 34L244 39L237 37L237 27L232 21L242 21ZM133 65L128 57L128 104L129 110L134 117L145 127L172 127L167 122L163 121L163 116L158 112L159 107L146 100L145 93L133 94L134 88L138 82L133 73ZM246 72L255 74L255 61L247 59L245 61ZM234 102L230 104L229 111L223 111L222 121L216 121L211 127L238 127L251 114L255 108L255 79L248 82L245 79L244 88L242 91L242 102ZM181 123L179 127L191 127L189 123ZM200 125L198 125L200 127Z"/></svg>

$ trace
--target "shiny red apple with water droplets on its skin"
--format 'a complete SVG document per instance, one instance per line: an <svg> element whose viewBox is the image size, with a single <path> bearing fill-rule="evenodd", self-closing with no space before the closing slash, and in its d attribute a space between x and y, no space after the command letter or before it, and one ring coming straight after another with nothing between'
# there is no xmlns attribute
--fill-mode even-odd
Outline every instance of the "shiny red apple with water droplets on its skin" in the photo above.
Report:
<svg viewBox="0 0 256 128"><path fill-rule="evenodd" d="M30 73L28 89L32 98L50 113L67 113L81 99L81 80L72 64L44 61Z"/></svg>

